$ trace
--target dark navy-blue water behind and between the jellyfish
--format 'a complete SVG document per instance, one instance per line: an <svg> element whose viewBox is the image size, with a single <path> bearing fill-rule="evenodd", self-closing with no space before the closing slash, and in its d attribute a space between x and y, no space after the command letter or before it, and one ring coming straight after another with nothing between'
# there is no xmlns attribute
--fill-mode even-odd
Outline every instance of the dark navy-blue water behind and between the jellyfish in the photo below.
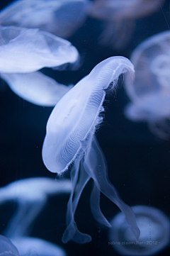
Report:
<svg viewBox="0 0 170 256"><path fill-rule="evenodd" d="M11 1L2 1L1 9ZM156 33L169 30L169 0L162 9L136 21L135 33L130 43L123 50L113 50L98 44L102 21L87 18L84 25L71 38L77 47L84 64L77 71L43 72L63 84L79 82L91 69L114 55L130 57L143 40ZM106 113L103 124L96 135L108 162L108 177L118 189L123 200L130 206L145 204L155 206L169 216L169 181L170 181L170 143L153 135L147 123L133 123L125 118L123 109L129 99L123 86L116 95L107 97ZM16 179L27 177L53 177L42 163L41 148L45 137L47 118L50 107L35 106L13 94L4 80L0 81L0 185L4 186ZM79 230L92 236L92 242L79 245L72 241L62 244L65 228L65 211L68 196L51 197L44 211L38 216L31 233L64 247L68 255L118 255L108 245L108 229L102 229L94 221L89 208L89 195L92 182L84 189L76 213ZM15 206L0 208L0 230L3 231ZM119 209L106 197L101 196L101 209L111 220ZM169 255L169 247L158 255Z"/></svg>

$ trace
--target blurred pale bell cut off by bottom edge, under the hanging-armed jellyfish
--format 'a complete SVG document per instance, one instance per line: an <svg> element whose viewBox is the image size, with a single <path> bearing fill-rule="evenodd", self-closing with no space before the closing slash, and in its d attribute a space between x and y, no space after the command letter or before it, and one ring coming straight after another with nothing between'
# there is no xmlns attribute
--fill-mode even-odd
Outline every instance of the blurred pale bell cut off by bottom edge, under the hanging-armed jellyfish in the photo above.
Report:
<svg viewBox="0 0 170 256"><path fill-rule="evenodd" d="M67 253L59 245L40 238L20 237L11 239L18 248L20 256L66 256Z"/></svg>

